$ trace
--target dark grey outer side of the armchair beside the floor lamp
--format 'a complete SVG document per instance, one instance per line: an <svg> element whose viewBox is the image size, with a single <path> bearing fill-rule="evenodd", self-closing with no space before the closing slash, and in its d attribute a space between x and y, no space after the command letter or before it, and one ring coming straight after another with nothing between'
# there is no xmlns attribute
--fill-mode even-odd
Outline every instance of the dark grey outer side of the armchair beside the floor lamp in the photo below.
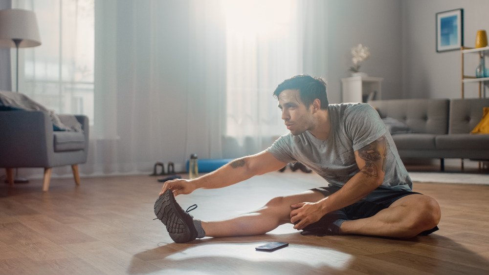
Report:
<svg viewBox="0 0 489 275"><path fill-rule="evenodd" d="M0 167L48 167L53 124L41 111L0 111Z"/></svg>

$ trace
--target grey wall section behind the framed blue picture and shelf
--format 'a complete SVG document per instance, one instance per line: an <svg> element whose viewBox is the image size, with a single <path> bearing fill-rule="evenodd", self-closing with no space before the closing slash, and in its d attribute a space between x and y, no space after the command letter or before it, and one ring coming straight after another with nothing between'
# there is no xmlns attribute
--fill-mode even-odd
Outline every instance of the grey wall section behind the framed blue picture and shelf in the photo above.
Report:
<svg viewBox="0 0 489 275"><path fill-rule="evenodd" d="M402 11L402 97L460 98L460 51L436 52L437 12L464 9L464 44L473 47L479 29L489 30L488 0L401 1ZM475 71L474 60L466 69ZM476 84L466 85L466 97L477 97Z"/></svg>

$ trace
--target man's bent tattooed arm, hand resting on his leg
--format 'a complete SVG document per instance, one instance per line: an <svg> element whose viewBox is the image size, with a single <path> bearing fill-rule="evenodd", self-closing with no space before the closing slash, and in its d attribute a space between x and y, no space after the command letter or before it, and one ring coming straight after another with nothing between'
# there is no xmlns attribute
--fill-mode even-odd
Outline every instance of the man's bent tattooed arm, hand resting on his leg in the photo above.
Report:
<svg viewBox="0 0 489 275"><path fill-rule="evenodd" d="M384 181L385 157L388 144L381 136L371 144L355 151L356 164L360 171L356 173L340 190L318 201L292 205L297 208L290 212L290 221L298 222L294 228L303 229L318 221L323 215L356 203L375 190Z"/></svg>

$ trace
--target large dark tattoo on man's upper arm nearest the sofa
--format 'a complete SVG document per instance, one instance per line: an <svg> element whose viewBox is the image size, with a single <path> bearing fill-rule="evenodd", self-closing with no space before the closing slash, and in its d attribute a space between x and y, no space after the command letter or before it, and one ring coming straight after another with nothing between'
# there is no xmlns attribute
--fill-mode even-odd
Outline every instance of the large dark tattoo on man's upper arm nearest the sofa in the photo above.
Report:
<svg viewBox="0 0 489 275"><path fill-rule="evenodd" d="M387 141L385 136L381 136L376 141L358 150L358 156L365 161L365 166L360 169L360 172L367 177L378 176L378 165L385 172L385 157L387 155ZM379 161L381 161L379 163Z"/></svg>

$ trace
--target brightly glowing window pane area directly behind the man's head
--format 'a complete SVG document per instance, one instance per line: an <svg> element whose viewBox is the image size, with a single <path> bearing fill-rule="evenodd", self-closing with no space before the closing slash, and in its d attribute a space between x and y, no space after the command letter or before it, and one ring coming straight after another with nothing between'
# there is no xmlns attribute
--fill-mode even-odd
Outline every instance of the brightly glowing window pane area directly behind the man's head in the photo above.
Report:
<svg viewBox="0 0 489 275"><path fill-rule="evenodd" d="M302 72L301 4L295 0L223 1L226 18L226 135L283 134L273 90Z"/></svg>

